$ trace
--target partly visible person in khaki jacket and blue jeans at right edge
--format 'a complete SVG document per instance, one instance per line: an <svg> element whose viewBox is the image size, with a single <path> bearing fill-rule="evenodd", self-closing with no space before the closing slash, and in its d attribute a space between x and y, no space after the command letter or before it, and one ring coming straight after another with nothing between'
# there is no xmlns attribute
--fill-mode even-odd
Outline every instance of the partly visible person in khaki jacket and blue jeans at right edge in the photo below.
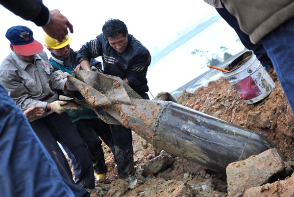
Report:
<svg viewBox="0 0 294 197"><path fill-rule="evenodd" d="M261 41L294 112L294 1L222 0L252 43Z"/></svg>

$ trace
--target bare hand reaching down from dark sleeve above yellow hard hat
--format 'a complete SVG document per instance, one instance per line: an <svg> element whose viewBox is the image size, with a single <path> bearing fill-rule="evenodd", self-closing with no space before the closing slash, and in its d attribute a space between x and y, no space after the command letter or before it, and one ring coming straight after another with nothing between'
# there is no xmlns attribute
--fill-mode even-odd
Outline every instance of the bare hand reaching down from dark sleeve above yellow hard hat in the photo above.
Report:
<svg viewBox="0 0 294 197"><path fill-rule="evenodd" d="M50 10L50 22L42 28L50 37L55 38L58 42L62 42L69 33L68 28L73 33L73 25L57 9Z"/></svg>

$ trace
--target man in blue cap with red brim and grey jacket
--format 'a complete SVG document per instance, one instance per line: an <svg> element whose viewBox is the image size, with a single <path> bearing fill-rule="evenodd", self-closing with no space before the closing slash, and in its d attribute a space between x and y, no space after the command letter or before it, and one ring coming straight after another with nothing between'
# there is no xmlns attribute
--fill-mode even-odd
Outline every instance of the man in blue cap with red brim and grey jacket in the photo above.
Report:
<svg viewBox="0 0 294 197"><path fill-rule="evenodd" d="M33 32L25 26L15 26L6 32L11 53L0 65L0 83L17 106L24 112L42 106L45 112L30 120L30 125L55 161L61 175L73 182L72 172L60 149L59 141L70 157L75 182L87 191L95 188L93 166L87 147L73 126L56 90L66 91L66 79L53 73L43 46L34 40ZM56 112L56 113L54 113Z"/></svg>

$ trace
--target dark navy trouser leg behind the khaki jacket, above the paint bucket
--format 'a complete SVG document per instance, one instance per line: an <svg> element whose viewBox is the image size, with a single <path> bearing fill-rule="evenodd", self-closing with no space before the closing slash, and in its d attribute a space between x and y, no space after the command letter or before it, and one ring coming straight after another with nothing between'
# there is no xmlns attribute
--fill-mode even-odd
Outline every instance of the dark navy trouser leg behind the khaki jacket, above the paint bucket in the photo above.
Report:
<svg viewBox="0 0 294 197"><path fill-rule="evenodd" d="M254 54L260 60L263 66L272 65L267 51L265 50L262 43L252 44L249 39L249 35L247 35L240 29L237 19L233 15L231 15L226 8L216 8L216 10L221 15L221 17L229 24L229 26L231 26L236 31L242 44L248 50L254 52Z"/></svg>

